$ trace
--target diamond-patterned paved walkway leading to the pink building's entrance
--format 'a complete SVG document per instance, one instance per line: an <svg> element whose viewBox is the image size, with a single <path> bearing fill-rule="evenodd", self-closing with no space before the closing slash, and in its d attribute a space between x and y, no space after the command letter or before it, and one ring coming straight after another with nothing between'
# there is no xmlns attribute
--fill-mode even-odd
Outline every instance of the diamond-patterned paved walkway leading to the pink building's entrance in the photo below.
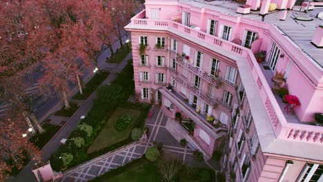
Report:
<svg viewBox="0 0 323 182"><path fill-rule="evenodd" d="M109 170L118 168L120 165L129 163L137 159L146 152L146 148L153 146L153 141L163 143L163 152L166 158L179 159L187 165L195 167L208 168L204 161L197 161L193 157L193 151L183 147L179 142L166 130L168 117L158 105L153 105L153 117L147 119L146 126L150 130L148 141L141 141L133 145L128 145L115 152L101 155L87 163L63 172L63 178L60 182L82 182L88 181L100 176Z"/></svg>

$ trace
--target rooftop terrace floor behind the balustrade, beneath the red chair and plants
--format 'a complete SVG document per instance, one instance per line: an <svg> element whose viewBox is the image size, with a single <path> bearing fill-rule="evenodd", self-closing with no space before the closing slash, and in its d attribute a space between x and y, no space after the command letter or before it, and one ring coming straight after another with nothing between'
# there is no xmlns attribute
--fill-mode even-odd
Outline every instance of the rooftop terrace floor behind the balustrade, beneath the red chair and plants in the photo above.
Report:
<svg viewBox="0 0 323 182"><path fill-rule="evenodd" d="M271 78L273 78L273 76L274 76L273 71L271 70L271 68L268 66L268 64L265 61L263 63L260 63L259 65L262 70L262 73L264 74L264 77L267 80L269 87L273 88L274 83L271 80ZM300 119L298 119L295 112L294 112L294 114L292 114L291 112L288 112L288 114L287 114L286 110L284 110L286 103L282 102L282 98L277 93L273 92L273 94L277 100L278 105L280 105L280 109L282 110L284 117L286 118L286 121L288 123L301 123Z"/></svg>

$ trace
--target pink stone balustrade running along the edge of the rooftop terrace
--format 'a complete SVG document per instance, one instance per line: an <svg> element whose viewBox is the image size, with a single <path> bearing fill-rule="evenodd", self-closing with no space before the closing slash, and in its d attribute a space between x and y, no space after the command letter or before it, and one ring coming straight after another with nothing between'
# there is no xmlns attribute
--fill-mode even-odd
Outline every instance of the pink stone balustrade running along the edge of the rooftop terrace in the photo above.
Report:
<svg viewBox="0 0 323 182"><path fill-rule="evenodd" d="M244 57L249 65L249 70L253 75L257 89L260 92L262 103L264 104L268 118L271 121L275 136L284 139L300 139L302 141L323 144L323 127L300 125L288 123L286 121L251 50L171 20L132 19L131 23L133 26L138 26L138 28L148 26L149 28L163 28L163 30L177 30L190 37L194 37L195 39L214 45L222 50L226 50L231 54Z"/></svg>

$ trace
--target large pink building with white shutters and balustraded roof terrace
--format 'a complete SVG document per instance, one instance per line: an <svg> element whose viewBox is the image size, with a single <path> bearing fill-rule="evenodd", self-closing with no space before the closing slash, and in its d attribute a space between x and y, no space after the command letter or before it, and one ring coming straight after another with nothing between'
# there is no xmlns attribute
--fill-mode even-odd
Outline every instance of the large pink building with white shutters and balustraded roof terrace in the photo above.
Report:
<svg viewBox="0 0 323 182"><path fill-rule="evenodd" d="M186 139L222 152L227 179L323 181L323 9L294 3L146 0L126 26L138 99L194 123Z"/></svg>

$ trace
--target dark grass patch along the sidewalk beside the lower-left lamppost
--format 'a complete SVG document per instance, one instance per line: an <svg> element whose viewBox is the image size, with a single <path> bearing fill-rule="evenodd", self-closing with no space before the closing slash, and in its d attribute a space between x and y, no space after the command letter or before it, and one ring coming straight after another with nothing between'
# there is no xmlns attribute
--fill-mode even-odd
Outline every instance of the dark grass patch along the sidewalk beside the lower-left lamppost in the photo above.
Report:
<svg viewBox="0 0 323 182"><path fill-rule="evenodd" d="M42 134L39 134L39 132L37 132L30 138L30 141L37 147L39 147L39 149L41 149L46 145L46 143L48 143L48 141L50 141L50 139L52 139L52 136L54 136L56 132L58 132L59 128L61 128L61 126L46 123L43 125L45 132L43 132Z"/></svg>

